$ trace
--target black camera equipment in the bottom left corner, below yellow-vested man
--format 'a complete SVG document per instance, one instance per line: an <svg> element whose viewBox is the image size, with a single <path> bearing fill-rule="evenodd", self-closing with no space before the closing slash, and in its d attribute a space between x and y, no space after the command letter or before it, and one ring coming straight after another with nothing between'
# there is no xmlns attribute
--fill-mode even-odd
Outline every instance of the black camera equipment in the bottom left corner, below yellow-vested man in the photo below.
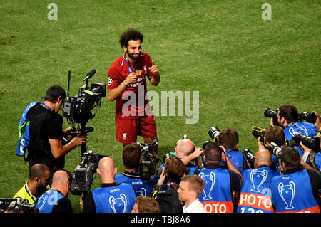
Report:
<svg viewBox="0 0 321 227"><path fill-rule="evenodd" d="M14 199L0 199L0 213L9 211L11 213L39 213L36 204L29 204L28 199L14 198Z"/></svg>

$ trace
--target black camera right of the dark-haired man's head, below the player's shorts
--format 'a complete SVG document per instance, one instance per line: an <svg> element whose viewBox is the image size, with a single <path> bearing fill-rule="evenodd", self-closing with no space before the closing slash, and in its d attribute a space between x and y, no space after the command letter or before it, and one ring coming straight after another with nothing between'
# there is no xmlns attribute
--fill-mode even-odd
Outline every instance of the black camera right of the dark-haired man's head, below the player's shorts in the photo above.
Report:
<svg viewBox="0 0 321 227"><path fill-rule="evenodd" d="M138 143L141 147L141 164L139 166L139 175L143 180L151 179L157 174L156 164L159 159L153 152L153 149L158 147L158 141L154 137L151 137L151 139L152 142L150 144L146 144L144 142Z"/></svg>

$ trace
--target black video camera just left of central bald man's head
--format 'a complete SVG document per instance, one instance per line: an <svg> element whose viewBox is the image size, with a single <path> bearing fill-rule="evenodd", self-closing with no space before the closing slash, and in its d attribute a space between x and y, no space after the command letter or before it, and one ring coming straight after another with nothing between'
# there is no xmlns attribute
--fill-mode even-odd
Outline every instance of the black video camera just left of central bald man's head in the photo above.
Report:
<svg viewBox="0 0 321 227"><path fill-rule="evenodd" d="M81 164L78 164L71 176L71 193L80 196L82 192L88 193L93 184L93 174L96 173L98 162L103 157L102 154L95 154L92 151L84 153Z"/></svg>

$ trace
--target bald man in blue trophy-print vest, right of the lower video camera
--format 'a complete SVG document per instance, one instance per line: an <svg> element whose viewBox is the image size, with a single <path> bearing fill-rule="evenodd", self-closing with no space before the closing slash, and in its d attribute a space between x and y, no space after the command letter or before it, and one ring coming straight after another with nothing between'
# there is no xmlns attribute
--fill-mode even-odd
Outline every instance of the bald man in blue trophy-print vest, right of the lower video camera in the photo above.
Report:
<svg viewBox="0 0 321 227"><path fill-rule="evenodd" d="M136 193L131 184L115 181L117 168L113 159L103 157L97 168L101 186L89 192L83 201L83 213L130 213Z"/></svg>

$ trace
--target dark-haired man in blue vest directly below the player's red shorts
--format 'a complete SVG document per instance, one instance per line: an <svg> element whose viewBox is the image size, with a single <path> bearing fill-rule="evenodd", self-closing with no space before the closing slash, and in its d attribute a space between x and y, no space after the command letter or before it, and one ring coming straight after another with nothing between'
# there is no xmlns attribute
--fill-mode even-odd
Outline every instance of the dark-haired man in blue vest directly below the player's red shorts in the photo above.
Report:
<svg viewBox="0 0 321 227"><path fill-rule="evenodd" d="M123 174L117 174L115 181L118 184L127 183L133 186L138 196L148 196L151 193L151 189L158 181L157 177L153 177L150 180L142 180L138 172L139 164L141 163L141 147L137 143L131 143L123 148L123 166L125 172Z"/></svg>

